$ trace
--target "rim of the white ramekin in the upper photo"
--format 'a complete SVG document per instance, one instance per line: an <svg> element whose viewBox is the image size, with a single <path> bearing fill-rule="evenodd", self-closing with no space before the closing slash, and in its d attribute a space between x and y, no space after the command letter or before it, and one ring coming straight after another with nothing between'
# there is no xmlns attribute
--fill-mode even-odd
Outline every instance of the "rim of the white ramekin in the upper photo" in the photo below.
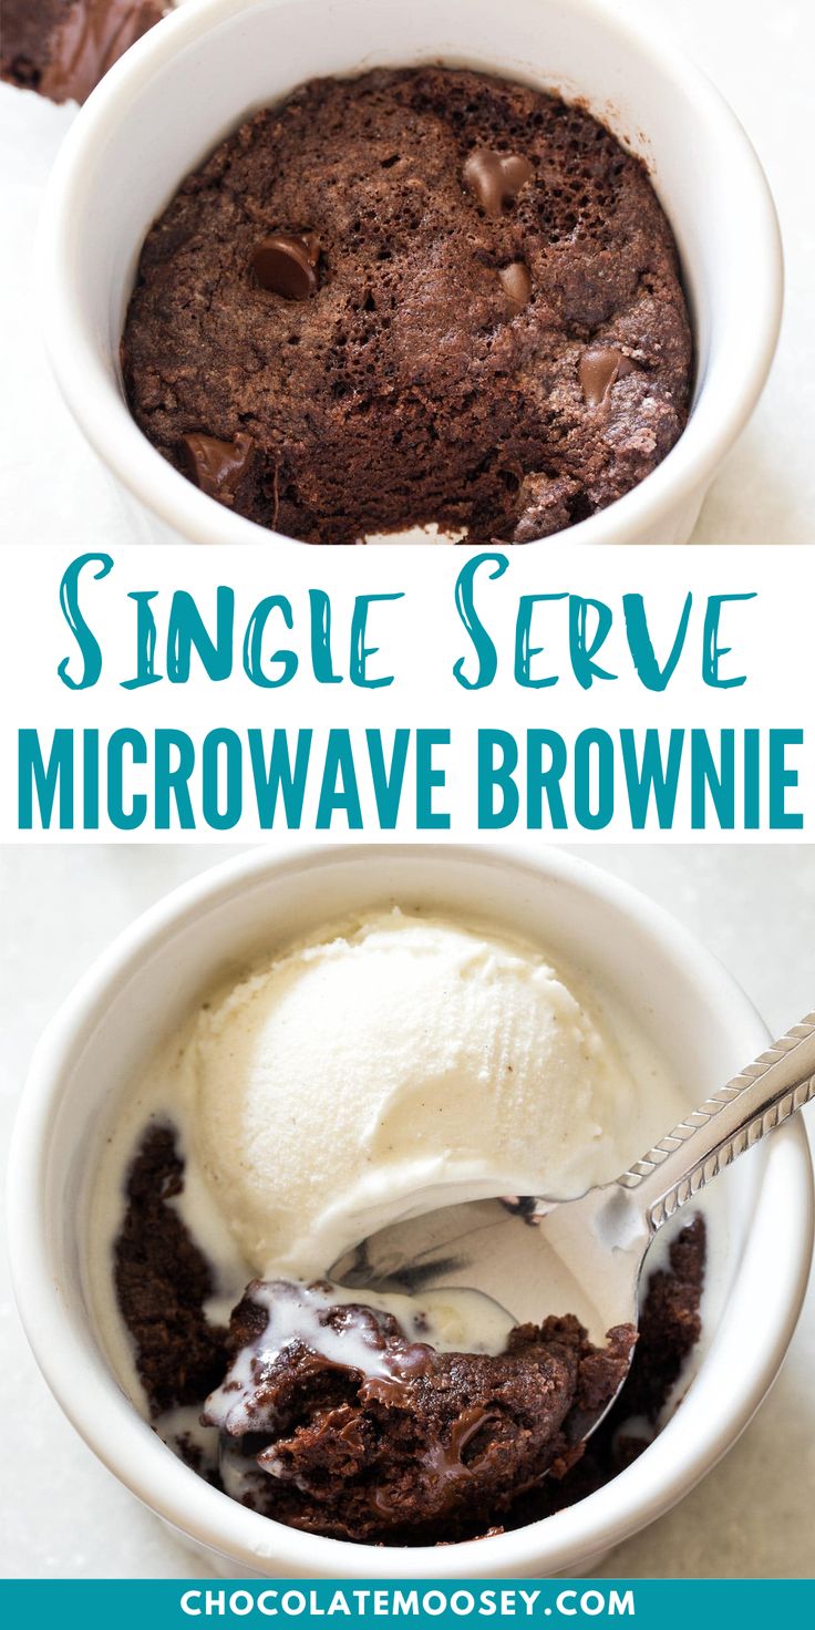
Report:
<svg viewBox="0 0 815 1630"><path fill-rule="evenodd" d="M82 302L72 280L73 240L83 207L85 163L108 139L121 109L129 108L153 73L210 24L259 0L197 0L181 7L137 41L114 64L85 103L57 155L37 240L37 280L44 339L59 388L80 429L119 481L155 517L192 543L302 544L235 515L199 492L139 430L85 333ZM271 7L290 0L266 0ZM691 494L703 494L740 435L763 391L778 344L784 264L773 196L747 132L707 75L686 57L672 34L642 13L621 15L608 0L572 0L598 26L628 42L657 75L672 78L693 108L693 127L704 130L712 161L729 166L738 197L742 243L738 292L750 323L730 333L719 355L719 385L703 381L680 440L631 492L569 528L570 543L626 543L652 530ZM541 540L543 541L543 540Z"/></svg>

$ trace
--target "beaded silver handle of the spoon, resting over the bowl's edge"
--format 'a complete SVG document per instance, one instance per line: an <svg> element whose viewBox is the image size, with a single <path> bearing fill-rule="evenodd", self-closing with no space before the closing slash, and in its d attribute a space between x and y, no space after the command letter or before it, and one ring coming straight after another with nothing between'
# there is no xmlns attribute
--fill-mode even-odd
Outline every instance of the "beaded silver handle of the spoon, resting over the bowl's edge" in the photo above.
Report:
<svg viewBox="0 0 815 1630"><path fill-rule="evenodd" d="M618 1177L655 1234L712 1177L815 1099L815 1012L706 1099Z"/></svg>

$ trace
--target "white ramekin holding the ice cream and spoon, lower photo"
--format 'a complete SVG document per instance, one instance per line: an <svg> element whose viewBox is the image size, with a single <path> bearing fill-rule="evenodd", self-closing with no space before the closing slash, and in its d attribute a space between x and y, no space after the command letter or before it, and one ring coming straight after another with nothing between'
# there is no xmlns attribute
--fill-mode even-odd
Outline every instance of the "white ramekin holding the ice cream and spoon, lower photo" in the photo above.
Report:
<svg viewBox="0 0 815 1630"><path fill-rule="evenodd" d="M680 1412L613 1483L544 1522L438 1548L302 1534L214 1490L117 1384L86 1291L88 1188L104 1125L145 1050L261 947L398 900L513 926L587 968L637 1015L699 1102L768 1040L725 970L672 918L557 851L416 846L254 851L179 888L122 934L37 1046L10 1161L10 1245L23 1320L55 1397L101 1460L225 1573L329 1578L584 1571L681 1498L761 1402L795 1327L812 1255L812 1169L789 1121L714 1185L727 1263Z"/></svg>

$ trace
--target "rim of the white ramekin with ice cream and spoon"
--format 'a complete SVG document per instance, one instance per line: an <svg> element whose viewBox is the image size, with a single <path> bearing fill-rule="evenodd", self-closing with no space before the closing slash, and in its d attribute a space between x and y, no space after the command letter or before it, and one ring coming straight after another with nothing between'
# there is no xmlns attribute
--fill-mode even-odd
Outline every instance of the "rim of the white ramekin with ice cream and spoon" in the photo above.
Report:
<svg viewBox="0 0 815 1630"><path fill-rule="evenodd" d="M766 1271L761 1322L737 1381L732 1369L717 1361L714 1337L681 1412L668 1421L647 1454L606 1488L543 1522L469 1544L409 1550L303 1534L214 1490L178 1460L140 1418L114 1379L93 1332L80 1335L75 1328L52 1276L49 1128L72 1055L82 1048L82 1038L108 1002L111 988L127 976L134 962L145 957L153 941L189 923L202 910L210 911L218 901L254 888L259 877L275 870L359 862L360 857L435 859L447 866L450 854L448 844L365 844L350 849L303 844L285 856L259 849L225 861L173 890L117 936L64 1002L31 1061L10 1151L8 1244L15 1294L37 1364L80 1436L145 1506L187 1539L251 1571L266 1566L280 1573L280 1558L285 1558L287 1571L297 1578L551 1575L605 1552L670 1509L738 1438L781 1368L804 1301L812 1260L813 1185L805 1131L800 1117L795 1117L751 1156L763 1157L764 1169L735 1283L747 1275L747 1258L756 1249L763 1258L760 1267ZM753 1037L758 1050L761 1038L766 1040L766 1025L722 963L662 906L628 883L557 849L530 857L517 846L456 844L455 856L486 867L522 869L536 879L541 874L556 877L579 890L590 890L611 911L639 921L670 954L683 980L699 991L699 999L714 1007L720 1004L732 1022L743 1022L747 1045ZM706 1376L711 1371L720 1386L712 1387L714 1408L707 1408L704 1431L694 1436L688 1420L694 1399L707 1392Z"/></svg>

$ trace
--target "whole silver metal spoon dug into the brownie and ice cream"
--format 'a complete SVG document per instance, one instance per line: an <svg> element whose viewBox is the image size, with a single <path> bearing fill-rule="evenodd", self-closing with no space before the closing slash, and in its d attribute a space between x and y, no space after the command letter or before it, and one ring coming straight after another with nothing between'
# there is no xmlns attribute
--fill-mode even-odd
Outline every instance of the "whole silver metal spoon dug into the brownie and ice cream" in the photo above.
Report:
<svg viewBox="0 0 815 1630"><path fill-rule="evenodd" d="M660 1227L810 1099L815 1012L616 1182L579 1200L474 1200L406 1218L339 1257L331 1280L362 1291L476 1289L518 1324L572 1312L601 1345L613 1325L637 1324L642 1262Z"/></svg>

